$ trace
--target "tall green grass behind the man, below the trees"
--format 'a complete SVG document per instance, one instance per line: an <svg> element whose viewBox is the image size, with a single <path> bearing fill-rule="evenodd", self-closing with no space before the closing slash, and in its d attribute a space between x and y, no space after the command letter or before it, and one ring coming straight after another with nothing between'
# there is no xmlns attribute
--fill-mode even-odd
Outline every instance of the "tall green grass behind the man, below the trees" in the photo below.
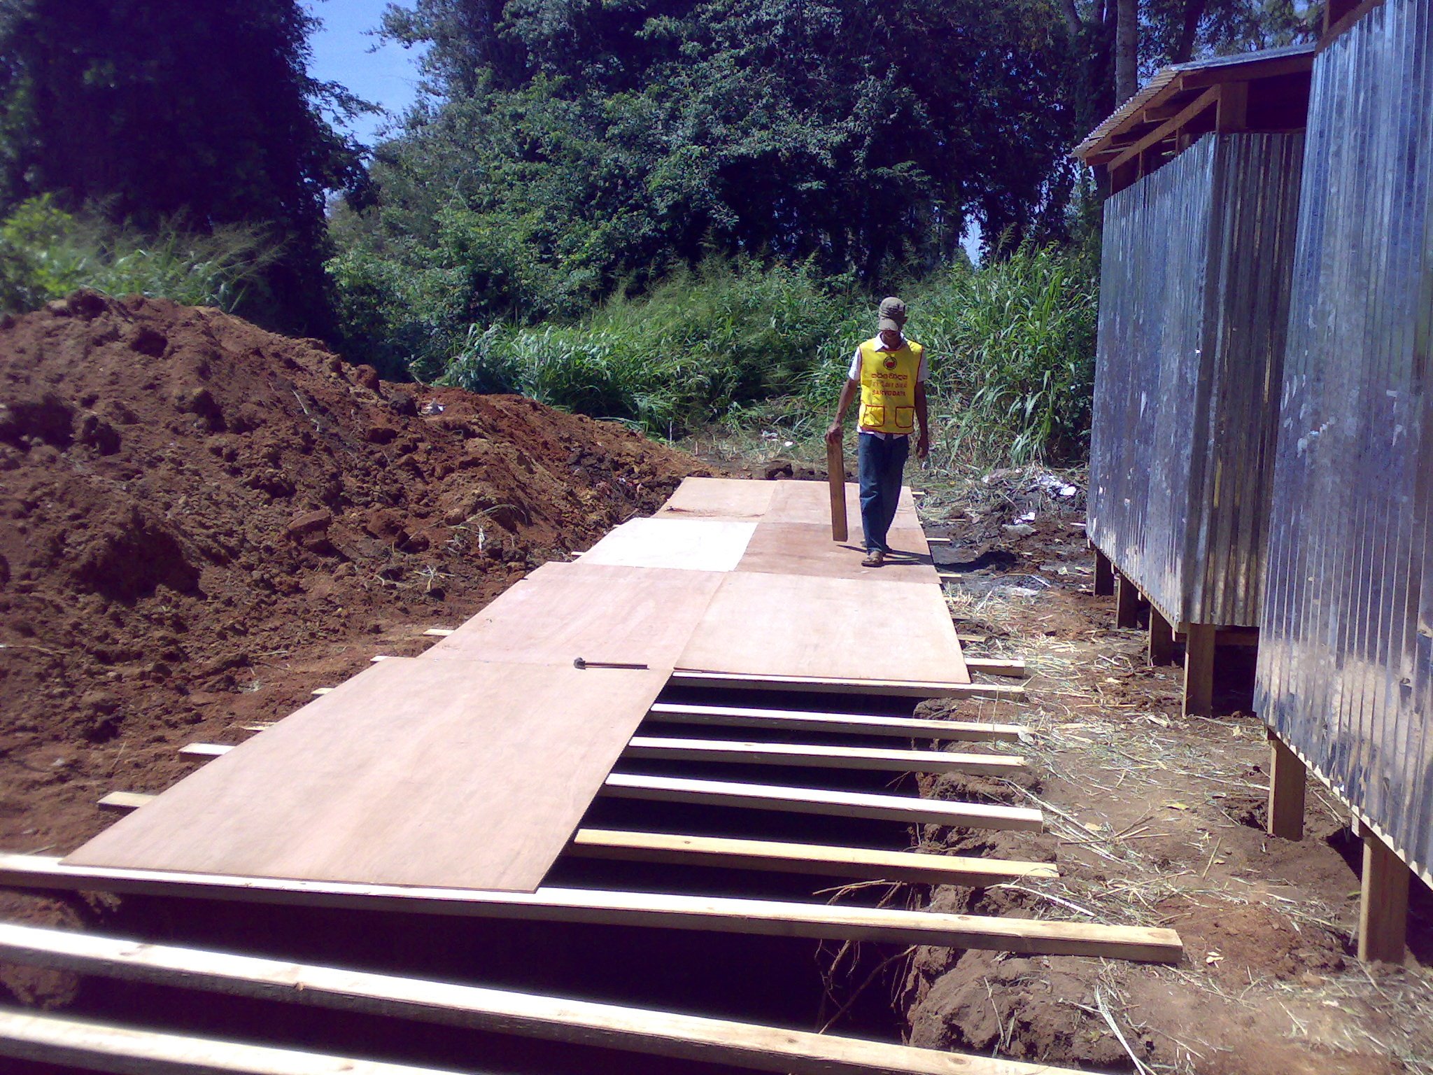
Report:
<svg viewBox="0 0 1433 1075"><path fill-rule="evenodd" d="M1096 265L1020 248L900 288L926 345L937 463L1062 462L1085 452ZM517 391L658 436L722 423L815 437L881 295L802 267L709 262L577 324L474 325L444 381Z"/></svg>

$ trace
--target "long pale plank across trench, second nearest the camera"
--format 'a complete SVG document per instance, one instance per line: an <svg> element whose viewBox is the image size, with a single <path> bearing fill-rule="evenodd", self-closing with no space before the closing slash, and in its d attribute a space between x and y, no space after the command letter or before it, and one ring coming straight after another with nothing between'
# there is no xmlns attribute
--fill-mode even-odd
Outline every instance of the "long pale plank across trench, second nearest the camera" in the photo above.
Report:
<svg viewBox="0 0 1433 1075"><path fill-rule="evenodd" d="M1063 1075L1046 1065L963 1056L840 1035L590 1000L453 985L224 952L0 926L14 962L126 982L413 1019L573 1045L792 1075Z"/></svg>

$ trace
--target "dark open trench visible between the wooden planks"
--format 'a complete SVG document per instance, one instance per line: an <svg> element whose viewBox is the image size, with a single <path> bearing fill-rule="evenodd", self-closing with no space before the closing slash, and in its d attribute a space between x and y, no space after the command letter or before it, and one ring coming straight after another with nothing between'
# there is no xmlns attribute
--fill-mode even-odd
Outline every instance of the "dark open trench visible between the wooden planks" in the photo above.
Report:
<svg viewBox="0 0 1433 1075"><path fill-rule="evenodd" d="M663 701L722 702L850 712L910 715L898 699L838 695L778 697L678 692ZM648 732L649 725L643 725ZM751 741L800 741L770 730L651 725L652 734ZM823 737L848 745L904 745L873 737ZM619 771L711 780L791 784L853 791L914 794L914 777L878 771L699 765L642 761ZM454 823L460 823L454 818ZM599 798L583 827L632 828L698 836L795 840L904 850L913 828L900 823ZM480 833L473 834L481 838ZM754 870L606 861L565 854L545 882L555 887L625 889L675 894L777 900L827 900L847 882ZM813 896L817 890L824 894ZM924 886L847 889L850 906L904 907L924 899ZM457 919L387 912L330 910L128 896L93 922L96 932L156 943L209 947L299 963L430 978L444 982L529 990L559 998L737 1019L744 1022L901 1039L898 946L579 923ZM838 957L840 955L840 957ZM835 973L831 975L833 963ZM828 980L830 979L830 980ZM830 986L830 989L828 989ZM464 1072L513 1075L679 1075L749 1071L676 1061L636 1052L474 1032L407 1019L351 1015L222 996L168 986L85 978L69 1015L149 1026L226 1041L312 1049ZM53 1072L29 1065L17 1072Z"/></svg>

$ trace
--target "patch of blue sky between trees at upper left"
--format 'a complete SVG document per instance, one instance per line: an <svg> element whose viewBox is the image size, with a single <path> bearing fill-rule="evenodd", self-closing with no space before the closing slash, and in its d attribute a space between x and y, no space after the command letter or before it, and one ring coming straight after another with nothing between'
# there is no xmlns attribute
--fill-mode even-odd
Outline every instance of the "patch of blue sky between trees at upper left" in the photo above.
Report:
<svg viewBox="0 0 1433 1075"><path fill-rule="evenodd" d="M324 26L310 39L314 60L310 75L338 82L360 97L381 105L394 116L417 97L418 53L398 44L381 44L368 30L378 26L387 0L301 0L305 11ZM350 126L364 145L373 145L384 116L361 116Z"/></svg>

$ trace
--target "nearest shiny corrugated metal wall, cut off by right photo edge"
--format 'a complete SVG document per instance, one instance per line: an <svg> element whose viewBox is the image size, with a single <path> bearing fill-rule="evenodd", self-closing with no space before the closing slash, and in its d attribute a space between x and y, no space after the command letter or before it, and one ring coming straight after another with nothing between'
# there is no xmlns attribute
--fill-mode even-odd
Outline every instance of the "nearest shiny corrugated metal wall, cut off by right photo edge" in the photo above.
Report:
<svg viewBox="0 0 1433 1075"><path fill-rule="evenodd" d="M1404 856L1433 859L1429 0L1314 63L1255 707Z"/></svg>

